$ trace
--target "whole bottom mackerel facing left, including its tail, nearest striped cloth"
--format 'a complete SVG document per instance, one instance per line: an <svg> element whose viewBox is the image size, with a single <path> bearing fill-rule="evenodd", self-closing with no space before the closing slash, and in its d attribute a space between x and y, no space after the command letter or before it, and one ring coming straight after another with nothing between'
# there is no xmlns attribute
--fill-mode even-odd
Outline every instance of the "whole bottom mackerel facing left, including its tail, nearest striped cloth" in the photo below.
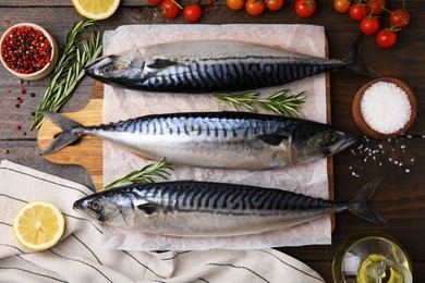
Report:
<svg viewBox="0 0 425 283"><path fill-rule="evenodd" d="M330 201L278 188L180 181L129 185L87 196L74 209L101 223L171 236L235 236L291 227L350 210L384 223L366 202L379 180L349 201Z"/></svg>

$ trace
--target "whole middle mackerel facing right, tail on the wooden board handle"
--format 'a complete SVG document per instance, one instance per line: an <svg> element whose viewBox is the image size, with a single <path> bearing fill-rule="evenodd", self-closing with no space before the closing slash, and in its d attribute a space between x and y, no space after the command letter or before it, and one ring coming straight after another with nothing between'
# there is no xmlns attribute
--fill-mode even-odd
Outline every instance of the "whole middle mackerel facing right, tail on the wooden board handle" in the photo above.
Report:
<svg viewBox="0 0 425 283"><path fill-rule="evenodd" d="M315 161L355 142L353 135L326 124L256 113L171 113L99 126L44 113L63 128L44 153L94 135L148 159L167 158L172 164L264 170Z"/></svg>

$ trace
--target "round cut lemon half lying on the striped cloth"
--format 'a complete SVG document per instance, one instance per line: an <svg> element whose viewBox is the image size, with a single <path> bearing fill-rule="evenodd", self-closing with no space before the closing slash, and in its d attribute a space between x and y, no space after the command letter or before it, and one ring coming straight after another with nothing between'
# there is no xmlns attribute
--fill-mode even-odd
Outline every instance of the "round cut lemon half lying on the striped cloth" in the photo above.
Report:
<svg viewBox="0 0 425 283"><path fill-rule="evenodd" d="M42 200L23 206L13 219L13 234L28 249L44 250L54 246L63 235L65 220L52 204Z"/></svg>

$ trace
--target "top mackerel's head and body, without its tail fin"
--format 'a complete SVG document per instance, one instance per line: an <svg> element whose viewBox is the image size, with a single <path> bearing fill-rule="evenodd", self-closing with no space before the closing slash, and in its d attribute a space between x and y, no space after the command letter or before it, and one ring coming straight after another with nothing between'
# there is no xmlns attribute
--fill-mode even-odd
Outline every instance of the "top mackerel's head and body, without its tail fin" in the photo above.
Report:
<svg viewBox="0 0 425 283"><path fill-rule="evenodd" d="M130 89L217 93L282 85L350 64L250 42L205 40L141 47L100 58L85 71Z"/></svg>

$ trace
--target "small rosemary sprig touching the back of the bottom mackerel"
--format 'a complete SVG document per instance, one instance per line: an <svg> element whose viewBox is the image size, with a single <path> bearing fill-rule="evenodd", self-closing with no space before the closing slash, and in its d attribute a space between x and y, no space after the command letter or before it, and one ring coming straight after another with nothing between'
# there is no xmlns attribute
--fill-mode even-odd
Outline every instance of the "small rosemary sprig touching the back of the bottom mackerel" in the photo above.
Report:
<svg viewBox="0 0 425 283"><path fill-rule="evenodd" d="M147 184L154 183L156 179L167 180L170 175L169 170L172 170L173 165L168 163L163 158L157 163L148 164L141 170L135 170L125 176L113 181L109 185L105 186L104 189L116 187L119 185L130 185L130 184Z"/></svg>

